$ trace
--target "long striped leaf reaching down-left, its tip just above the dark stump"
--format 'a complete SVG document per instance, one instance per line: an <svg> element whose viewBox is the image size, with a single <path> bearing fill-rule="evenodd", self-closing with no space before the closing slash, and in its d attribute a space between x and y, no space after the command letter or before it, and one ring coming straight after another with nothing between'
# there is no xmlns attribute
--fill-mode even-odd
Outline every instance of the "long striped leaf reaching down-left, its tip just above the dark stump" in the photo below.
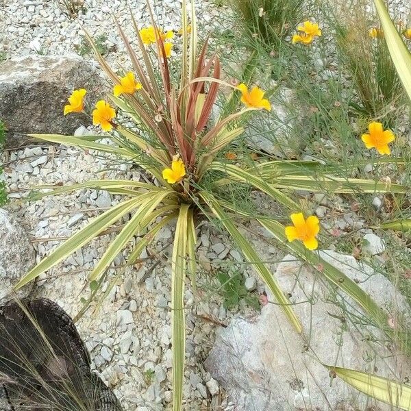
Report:
<svg viewBox="0 0 411 411"><path fill-rule="evenodd" d="M151 193L149 193L149 195L151 195ZM32 269L32 271L29 271L29 273L27 273L27 275L25 275L16 284L16 286L14 286L14 289L18 290L18 288L23 287L25 284L38 277L40 274L51 269L60 261L70 256L71 253L74 253L77 249L86 245L93 238L103 232L107 227L110 227L110 225L121 219L121 217L127 212L133 210L133 208L136 208L139 203L147 198L145 196L147 195L142 195L138 198L123 201L123 203L114 206L110 210L104 212L100 216L90 221L90 223L88 223L86 227L82 228L79 232L71 236L69 240L55 249L55 251L53 251L50 256L46 257L39 264L37 264L34 269Z"/></svg>

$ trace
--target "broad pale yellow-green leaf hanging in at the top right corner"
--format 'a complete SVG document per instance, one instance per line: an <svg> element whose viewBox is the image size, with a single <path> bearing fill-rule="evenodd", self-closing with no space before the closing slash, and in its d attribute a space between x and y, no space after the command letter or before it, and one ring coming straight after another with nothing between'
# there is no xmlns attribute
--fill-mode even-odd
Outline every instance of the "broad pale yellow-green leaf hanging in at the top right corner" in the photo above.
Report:
<svg viewBox="0 0 411 411"><path fill-rule="evenodd" d="M391 20L385 2L383 0L374 0L374 4L381 19L384 38L391 58L393 59L395 69L397 69L399 78L411 100L411 53L408 51L407 46Z"/></svg>

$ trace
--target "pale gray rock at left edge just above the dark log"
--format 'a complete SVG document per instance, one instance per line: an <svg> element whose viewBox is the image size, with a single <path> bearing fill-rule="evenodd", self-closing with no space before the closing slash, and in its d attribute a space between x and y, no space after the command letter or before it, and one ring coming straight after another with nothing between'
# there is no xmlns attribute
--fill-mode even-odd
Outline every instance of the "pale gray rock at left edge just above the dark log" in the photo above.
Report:
<svg viewBox="0 0 411 411"><path fill-rule="evenodd" d="M36 263L34 248L25 232L11 212L0 208L0 304L10 299L12 287ZM27 297L32 290L30 282L18 292Z"/></svg>

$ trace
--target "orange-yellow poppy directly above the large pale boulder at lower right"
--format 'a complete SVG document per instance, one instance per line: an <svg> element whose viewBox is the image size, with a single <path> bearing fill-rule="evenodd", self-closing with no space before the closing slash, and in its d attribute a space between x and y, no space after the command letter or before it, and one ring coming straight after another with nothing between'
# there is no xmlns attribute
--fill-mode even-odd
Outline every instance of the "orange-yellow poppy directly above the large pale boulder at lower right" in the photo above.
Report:
<svg viewBox="0 0 411 411"><path fill-rule="evenodd" d="M319 247L319 242L316 239L320 231L319 219L316 216L310 216L305 220L302 212L291 214L290 218L293 225L286 227L287 240L301 240L309 250L315 250Z"/></svg>

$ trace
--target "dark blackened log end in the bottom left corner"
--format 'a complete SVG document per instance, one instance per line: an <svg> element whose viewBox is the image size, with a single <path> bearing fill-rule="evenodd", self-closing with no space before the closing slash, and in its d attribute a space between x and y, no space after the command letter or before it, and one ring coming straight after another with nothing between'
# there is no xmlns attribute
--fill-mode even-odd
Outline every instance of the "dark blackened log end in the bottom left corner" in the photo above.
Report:
<svg viewBox="0 0 411 411"><path fill-rule="evenodd" d="M90 371L90 355L70 316L48 299L0 308L0 383L0 411L122 411Z"/></svg>

